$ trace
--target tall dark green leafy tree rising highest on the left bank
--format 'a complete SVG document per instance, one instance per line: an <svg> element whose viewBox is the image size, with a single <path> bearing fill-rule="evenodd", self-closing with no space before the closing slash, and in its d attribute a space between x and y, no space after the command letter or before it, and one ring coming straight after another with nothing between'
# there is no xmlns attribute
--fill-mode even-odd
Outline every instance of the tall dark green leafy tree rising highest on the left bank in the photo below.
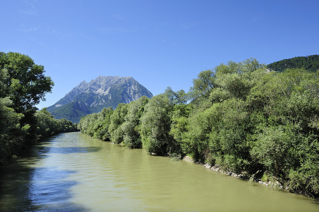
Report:
<svg viewBox="0 0 319 212"><path fill-rule="evenodd" d="M44 67L37 65L28 55L17 52L0 52L0 69L5 69L0 98L8 96L17 113L30 116L35 105L45 100L54 85L50 77L44 76ZM3 86L1 86L3 87Z"/></svg>

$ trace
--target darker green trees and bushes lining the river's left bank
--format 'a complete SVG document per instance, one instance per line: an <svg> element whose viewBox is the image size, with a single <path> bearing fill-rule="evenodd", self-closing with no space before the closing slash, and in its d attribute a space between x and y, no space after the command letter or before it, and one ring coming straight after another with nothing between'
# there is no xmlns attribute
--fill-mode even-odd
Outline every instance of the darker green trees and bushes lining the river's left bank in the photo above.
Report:
<svg viewBox="0 0 319 212"><path fill-rule="evenodd" d="M76 124L54 119L46 108L36 111L54 85L44 72L27 55L0 52L0 165L41 138L78 131Z"/></svg>

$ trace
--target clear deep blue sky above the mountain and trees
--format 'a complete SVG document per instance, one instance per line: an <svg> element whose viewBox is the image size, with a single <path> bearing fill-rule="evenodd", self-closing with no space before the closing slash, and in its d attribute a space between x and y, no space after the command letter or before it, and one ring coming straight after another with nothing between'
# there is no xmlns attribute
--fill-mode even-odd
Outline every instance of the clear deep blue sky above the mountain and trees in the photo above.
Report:
<svg viewBox="0 0 319 212"><path fill-rule="evenodd" d="M188 91L229 60L319 54L319 1L0 2L0 51L29 55L55 82L39 108L97 76L131 76L153 95Z"/></svg>

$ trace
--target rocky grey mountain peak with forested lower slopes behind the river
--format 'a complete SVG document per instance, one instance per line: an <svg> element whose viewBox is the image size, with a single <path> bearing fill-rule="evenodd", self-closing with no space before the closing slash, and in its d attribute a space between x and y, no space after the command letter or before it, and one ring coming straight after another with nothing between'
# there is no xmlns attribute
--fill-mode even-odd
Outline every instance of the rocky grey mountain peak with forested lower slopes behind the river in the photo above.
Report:
<svg viewBox="0 0 319 212"><path fill-rule="evenodd" d="M82 116L100 112L103 107L115 109L119 103L130 103L141 96L153 97L133 77L99 76L89 83L82 81L47 110L56 119L78 123Z"/></svg>

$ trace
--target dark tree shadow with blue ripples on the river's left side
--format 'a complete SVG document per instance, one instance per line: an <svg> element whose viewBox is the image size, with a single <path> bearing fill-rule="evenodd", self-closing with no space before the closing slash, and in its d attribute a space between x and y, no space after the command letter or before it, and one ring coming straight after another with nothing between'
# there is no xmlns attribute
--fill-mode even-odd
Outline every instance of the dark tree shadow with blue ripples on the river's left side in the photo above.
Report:
<svg viewBox="0 0 319 212"><path fill-rule="evenodd" d="M49 153L91 151L98 148L52 148L39 144L25 150L0 170L0 211L87 211L84 206L70 202L73 196L70 187L78 182L67 177L75 171L34 165Z"/></svg>

